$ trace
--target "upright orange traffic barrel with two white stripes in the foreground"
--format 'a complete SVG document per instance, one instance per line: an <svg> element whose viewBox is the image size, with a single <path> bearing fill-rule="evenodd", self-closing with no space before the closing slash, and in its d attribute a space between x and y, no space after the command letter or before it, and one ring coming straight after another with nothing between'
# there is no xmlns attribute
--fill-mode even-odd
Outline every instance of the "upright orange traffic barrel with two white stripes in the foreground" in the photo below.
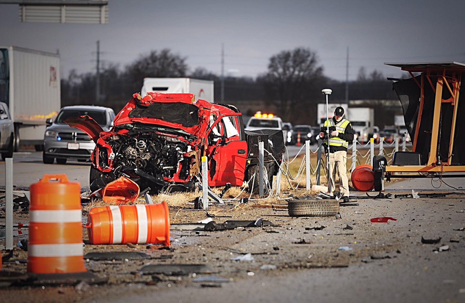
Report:
<svg viewBox="0 0 465 303"><path fill-rule="evenodd" d="M27 272L84 272L79 182L44 175L30 186Z"/></svg>

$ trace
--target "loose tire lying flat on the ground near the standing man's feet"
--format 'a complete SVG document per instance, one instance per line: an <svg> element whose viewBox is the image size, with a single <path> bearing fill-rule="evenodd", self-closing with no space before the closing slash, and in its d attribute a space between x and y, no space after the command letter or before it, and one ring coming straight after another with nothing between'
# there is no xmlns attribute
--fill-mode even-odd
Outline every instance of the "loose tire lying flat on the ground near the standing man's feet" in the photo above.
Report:
<svg viewBox="0 0 465 303"><path fill-rule="evenodd" d="M339 201L334 199L289 201L287 211L291 216L337 215Z"/></svg>

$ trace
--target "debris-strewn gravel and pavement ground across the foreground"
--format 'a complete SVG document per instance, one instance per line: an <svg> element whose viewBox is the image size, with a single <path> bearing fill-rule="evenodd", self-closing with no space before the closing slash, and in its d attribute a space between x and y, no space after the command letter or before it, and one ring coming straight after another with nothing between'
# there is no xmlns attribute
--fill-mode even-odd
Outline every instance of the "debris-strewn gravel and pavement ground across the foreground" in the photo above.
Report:
<svg viewBox="0 0 465 303"><path fill-rule="evenodd" d="M465 302L465 231L454 230L465 227L465 196L394 198L394 194L408 194L412 189L421 193L454 191L412 188L415 180L396 184L386 187L390 199L359 197L352 201L358 205L341 206L340 219L290 217L286 209L214 206L209 213L215 214L216 222L263 218L274 226L213 232L172 230L171 250L92 245L83 229L85 254L140 251L153 258L89 260L87 270L105 277L108 283L80 290L75 285L7 287L0 289L0 302L308 302L309 298L318 302ZM273 204L285 206L286 202ZM206 218L205 211L169 209L172 222ZM370 221L381 216L397 221ZM4 218L5 213L0 212L0 222ZM27 220L27 214L15 212L14 222ZM441 241L424 244L422 236L441 237ZM443 245L449 245L449 250L433 251ZM344 246L349 250L339 249ZM2 256L6 253L1 251ZM251 253L253 260L231 260L246 253ZM12 259L26 258L26 251L14 249ZM184 276L140 274L147 264L206 264L213 270ZM274 266L276 269L260 269ZM1 271L25 274L26 264L4 263ZM208 276L230 282L194 282Z"/></svg>

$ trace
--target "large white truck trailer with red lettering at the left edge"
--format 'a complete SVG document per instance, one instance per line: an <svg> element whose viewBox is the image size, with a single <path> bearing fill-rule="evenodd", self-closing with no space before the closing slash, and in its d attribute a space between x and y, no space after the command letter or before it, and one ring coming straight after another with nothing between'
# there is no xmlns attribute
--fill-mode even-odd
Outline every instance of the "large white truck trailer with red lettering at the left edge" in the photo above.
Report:
<svg viewBox="0 0 465 303"><path fill-rule="evenodd" d="M0 101L13 117L14 150L20 145L41 150L45 120L60 111L60 55L0 46Z"/></svg>

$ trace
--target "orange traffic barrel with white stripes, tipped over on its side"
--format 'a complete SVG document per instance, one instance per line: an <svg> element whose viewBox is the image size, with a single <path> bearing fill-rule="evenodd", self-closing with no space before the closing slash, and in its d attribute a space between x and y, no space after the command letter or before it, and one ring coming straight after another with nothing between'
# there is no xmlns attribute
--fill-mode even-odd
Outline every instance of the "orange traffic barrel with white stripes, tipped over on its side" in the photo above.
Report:
<svg viewBox="0 0 465 303"><path fill-rule="evenodd" d="M170 245L170 215L165 201L94 207L89 210L85 227L92 244Z"/></svg>

